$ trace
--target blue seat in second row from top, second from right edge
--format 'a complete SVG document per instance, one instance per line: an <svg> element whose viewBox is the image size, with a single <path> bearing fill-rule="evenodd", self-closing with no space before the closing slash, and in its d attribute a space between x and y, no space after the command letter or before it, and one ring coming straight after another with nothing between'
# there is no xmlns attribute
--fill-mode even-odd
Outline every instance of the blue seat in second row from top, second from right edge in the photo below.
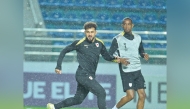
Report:
<svg viewBox="0 0 190 109"><path fill-rule="evenodd" d="M144 22L147 24L158 23L158 18L155 14L147 14L144 17Z"/></svg>

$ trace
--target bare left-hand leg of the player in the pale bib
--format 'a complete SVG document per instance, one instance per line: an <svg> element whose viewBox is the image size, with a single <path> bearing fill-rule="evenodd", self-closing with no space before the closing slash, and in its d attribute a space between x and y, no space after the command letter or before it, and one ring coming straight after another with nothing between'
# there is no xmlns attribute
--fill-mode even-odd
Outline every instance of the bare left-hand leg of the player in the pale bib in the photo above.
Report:
<svg viewBox="0 0 190 109"><path fill-rule="evenodd" d="M129 89L126 91L126 96L122 97L120 99L120 101L117 103L116 107L120 108L123 105L125 105L126 103L128 103L129 101L131 101L134 98L134 90L133 89Z"/></svg>

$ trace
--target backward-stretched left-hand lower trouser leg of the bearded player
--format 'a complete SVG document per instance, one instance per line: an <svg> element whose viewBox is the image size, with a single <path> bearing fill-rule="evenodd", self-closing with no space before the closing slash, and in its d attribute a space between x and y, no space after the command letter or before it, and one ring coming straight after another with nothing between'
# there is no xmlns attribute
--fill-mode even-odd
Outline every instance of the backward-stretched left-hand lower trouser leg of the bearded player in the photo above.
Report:
<svg viewBox="0 0 190 109"><path fill-rule="evenodd" d="M78 83L77 85L77 91L74 97L67 98L57 104L55 104L55 109L60 109L63 107L69 107L77 104L81 104L82 101L86 98L89 91Z"/></svg>

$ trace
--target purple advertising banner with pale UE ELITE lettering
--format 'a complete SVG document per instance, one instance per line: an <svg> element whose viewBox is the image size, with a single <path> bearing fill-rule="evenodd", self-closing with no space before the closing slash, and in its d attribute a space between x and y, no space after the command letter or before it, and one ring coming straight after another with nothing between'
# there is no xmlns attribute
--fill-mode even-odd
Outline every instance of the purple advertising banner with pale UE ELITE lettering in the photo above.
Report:
<svg viewBox="0 0 190 109"><path fill-rule="evenodd" d="M116 103L116 75L97 75L96 80L106 90L107 107ZM93 85L93 84L92 84ZM77 88L75 74L24 73L24 106L45 107L73 97ZM97 98L89 93L77 107L97 108Z"/></svg>

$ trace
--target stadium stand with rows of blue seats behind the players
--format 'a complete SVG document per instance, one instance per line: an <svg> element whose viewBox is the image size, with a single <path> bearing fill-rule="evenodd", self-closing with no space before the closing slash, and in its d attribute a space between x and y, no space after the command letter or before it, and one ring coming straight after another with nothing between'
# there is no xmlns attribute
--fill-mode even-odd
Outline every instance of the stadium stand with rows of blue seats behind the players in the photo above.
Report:
<svg viewBox="0 0 190 109"><path fill-rule="evenodd" d="M38 2L47 29L80 30L86 21L95 21L98 24L98 30L122 31L122 19L130 17L135 24L133 31L166 31L166 0L38 0ZM166 55L166 51L161 53L167 47L166 34L145 33L139 33L145 50L154 55ZM97 37L103 39L106 47L109 48L116 34L98 33ZM48 32L47 35L52 38L68 39L65 42L52 41L52 44L56 46L65 46L74 39L84 37L82 32L54 31ZM164 41L164 43L159 41ZM52 49L52 51L59 50Z"/></svg>

